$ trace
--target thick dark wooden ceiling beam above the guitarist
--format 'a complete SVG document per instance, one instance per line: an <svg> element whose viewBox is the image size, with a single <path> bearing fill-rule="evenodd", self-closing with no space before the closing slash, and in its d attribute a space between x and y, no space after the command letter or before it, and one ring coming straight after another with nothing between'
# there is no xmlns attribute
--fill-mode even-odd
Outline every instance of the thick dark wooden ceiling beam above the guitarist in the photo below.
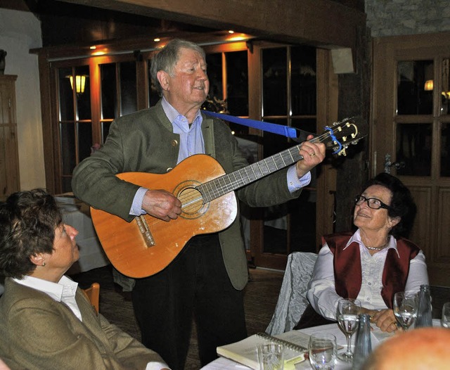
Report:
<svg viewBox="0 0 450 370"><path fill-rule="evenodd" d="M60 1L327 49L354 49L357 29L366 27L364 12L332 0Z"/></svg>

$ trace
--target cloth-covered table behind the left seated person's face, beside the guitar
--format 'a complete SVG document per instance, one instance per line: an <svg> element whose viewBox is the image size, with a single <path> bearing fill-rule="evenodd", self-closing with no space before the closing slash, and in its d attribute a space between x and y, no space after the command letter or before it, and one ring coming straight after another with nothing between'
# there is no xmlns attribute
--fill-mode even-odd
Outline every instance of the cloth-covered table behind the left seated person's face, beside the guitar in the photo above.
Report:
<svg viewBox="0 0 450 370"><path fill-rule="evenodd" d="M55 197L63 214L63 222L78 230L76 237L79 260L72 264L68 274L78 274L110 264L92 224L89 206L70 195Z"/></svg>

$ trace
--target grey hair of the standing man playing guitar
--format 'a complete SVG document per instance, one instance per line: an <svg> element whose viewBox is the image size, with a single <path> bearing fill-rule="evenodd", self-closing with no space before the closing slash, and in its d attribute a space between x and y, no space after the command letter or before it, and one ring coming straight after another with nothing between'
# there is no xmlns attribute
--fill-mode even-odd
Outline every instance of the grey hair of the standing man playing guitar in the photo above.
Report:
<svg viewBox="0 0 450 370"><path fill-rule="evenodd" d="M162 96L162 87L158 81L157 74L160 70L163 70L169 73L169 75L173 75L174 67L176 62L178 62L179 52L181 49L191 49L193 51L197 51L203 59L205 59L205 51L194 42L182 39L173 39L168 42L162 49L160 49L160 51L158 51L157 54L155 54L155 56L153 56L150 63L150 75L160 96Z"/></svg>

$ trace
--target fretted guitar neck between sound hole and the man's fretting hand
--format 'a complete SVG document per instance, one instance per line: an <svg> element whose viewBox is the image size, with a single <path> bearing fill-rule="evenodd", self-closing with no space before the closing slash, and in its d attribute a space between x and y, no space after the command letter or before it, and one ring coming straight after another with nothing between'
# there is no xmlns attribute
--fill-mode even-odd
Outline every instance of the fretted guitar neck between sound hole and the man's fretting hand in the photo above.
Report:
<svg viewBox="0 0 450 370"><path fill-rule="evenodd" d="M230 174L224 174L224 176L217 177L217 179L207 181L205 184L197 186L196 189L202 193L205 203L210 202L231 191L235 191L245 185L251 184L268 174L281 170L288 165L292 165L298 160L302 160L303 156L299 153L300 145L301 144L293 146L293 148L286 149L281 153L259 160L259 162L255 162L252 165L243 167Z"/></svg>

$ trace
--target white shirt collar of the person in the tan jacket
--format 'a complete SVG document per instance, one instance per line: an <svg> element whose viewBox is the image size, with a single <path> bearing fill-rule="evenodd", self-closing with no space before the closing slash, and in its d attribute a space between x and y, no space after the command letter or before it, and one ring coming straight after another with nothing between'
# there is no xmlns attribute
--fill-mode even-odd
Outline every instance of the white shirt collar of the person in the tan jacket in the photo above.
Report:
<svg viewBox="0 0 450 370"><path fill-rule="evenodd" d="M28 288L36 289L49 295L53 300L61 302L63 297L75 297L77 293L78 283L70 280L67 276L63 276L58 283L52 281L35 278L33 276L24 276L23 279L13 279L16 283L19 283Z"/></svg>

